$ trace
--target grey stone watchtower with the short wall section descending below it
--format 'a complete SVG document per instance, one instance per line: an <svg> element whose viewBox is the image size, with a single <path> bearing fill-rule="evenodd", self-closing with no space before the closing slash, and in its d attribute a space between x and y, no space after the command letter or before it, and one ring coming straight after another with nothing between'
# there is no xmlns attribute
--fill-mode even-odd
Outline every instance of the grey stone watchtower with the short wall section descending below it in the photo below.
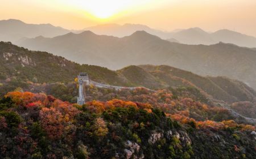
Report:
<svg viewBox="0 0 256 159"><path fill-rule="evenodd" d="M84 83L89 84L89 76L85 72L79 73L77 76L79 82L79 96L77 97L77 104L83 105L85 103L84 98Z"/></svg>

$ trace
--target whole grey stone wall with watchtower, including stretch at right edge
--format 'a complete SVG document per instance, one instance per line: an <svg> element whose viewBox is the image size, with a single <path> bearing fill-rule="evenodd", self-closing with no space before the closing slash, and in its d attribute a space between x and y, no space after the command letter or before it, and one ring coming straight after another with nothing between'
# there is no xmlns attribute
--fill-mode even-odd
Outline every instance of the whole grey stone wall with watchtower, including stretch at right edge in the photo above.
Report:
<svg viewBox="0 0 256 159"><path fill-rule="evenodd" d="M84 84L86 85L94 85L95 87L98 88L108 88L108 89L115 89L115 90L121 90L121 89L128 89L128 90L134 90L137 88L144 88L147 89L148 91L156 92L155 90L146 88L146 87L120 87L120 86L115 86L115 85L108 85L108 84L103 84L103 83L98 83L96 81L90 80L89 76L85 72L81 72L78 76L78 83L79 83L79 96L77 97L77 104L83 105L85 104L85 98L84 98ZM249 123L256 123L256 119L254 118L248 118L245 117L239 113L237 113L235 110L231 109L228 105L220 104L222 108L228 110L234 117L237 118L243 118Z"/></svg>

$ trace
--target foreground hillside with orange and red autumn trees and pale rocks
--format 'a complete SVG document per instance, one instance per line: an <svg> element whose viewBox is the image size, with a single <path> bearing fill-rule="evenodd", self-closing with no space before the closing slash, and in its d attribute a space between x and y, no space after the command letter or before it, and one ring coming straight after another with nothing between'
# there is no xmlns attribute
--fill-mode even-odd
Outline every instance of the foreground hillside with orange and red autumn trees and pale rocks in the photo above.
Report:
<svg viewBox="0 0 256 159"><path fill-rule="evenodd" d="M170 97L170 96L169 96ZM187 104L188 105L188 104ZM197 106L209 111L205 105ZM255 127L183 119L142 102L0 98L0 158L254 158ZM209 151L213 149L214 151Z"/></svg>

